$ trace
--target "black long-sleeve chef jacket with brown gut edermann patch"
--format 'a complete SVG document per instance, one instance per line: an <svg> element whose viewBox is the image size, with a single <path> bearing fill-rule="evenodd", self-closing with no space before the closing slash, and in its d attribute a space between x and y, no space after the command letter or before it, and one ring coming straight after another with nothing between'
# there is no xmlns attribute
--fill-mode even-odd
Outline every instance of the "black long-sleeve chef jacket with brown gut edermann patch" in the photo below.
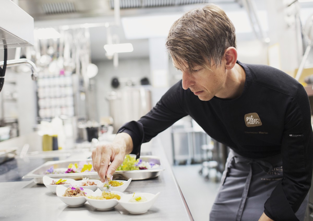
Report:
<svg viewBox="0 0 313 221"><path fill-rule="evenodd" d="M242 95L233 100L199 100L182 81L173 85L139 121L118 132L130 134L134 154L174 122L190 115L213 139L249 158L282 154L283 176L264 205L270 218L297 220L294 213L307 195L312 177L313 132L308 95L284 72L265 65L243 64ZM295 219L293 219L295 218Z"/></svg>

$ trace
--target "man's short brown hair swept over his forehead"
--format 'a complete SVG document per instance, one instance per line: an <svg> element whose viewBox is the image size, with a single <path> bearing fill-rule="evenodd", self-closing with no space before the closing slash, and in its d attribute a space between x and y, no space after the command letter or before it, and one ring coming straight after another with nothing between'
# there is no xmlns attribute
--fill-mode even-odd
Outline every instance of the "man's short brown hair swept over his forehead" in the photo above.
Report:
<svg viewBox="0 0 313 221"><path fill-rule="evenodd" d="M166 41L172 59L191 69L196 65L208 69L220 66L229 47L236 48L235 28L226 13L214 4L185 13L173 23Z"/></svg>

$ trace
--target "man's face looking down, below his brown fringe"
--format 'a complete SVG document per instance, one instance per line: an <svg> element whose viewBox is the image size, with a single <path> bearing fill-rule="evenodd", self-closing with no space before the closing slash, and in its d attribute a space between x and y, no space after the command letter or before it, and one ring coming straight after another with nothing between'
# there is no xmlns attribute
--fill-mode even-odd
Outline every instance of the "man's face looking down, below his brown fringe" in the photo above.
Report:
<svg viewBox="0 0 313 221"><path fill-rule="evenodd" d="M179 65L173 60L173 65L182 72L182 88L188 88L198 96L200 100L211 100L215 95L224 88L226 69L216 67L214 62L211 62L211 69L206 69L200 65L194 66L191 70L187 63ZM209 66L209 65L208 65Z"/></svg>

